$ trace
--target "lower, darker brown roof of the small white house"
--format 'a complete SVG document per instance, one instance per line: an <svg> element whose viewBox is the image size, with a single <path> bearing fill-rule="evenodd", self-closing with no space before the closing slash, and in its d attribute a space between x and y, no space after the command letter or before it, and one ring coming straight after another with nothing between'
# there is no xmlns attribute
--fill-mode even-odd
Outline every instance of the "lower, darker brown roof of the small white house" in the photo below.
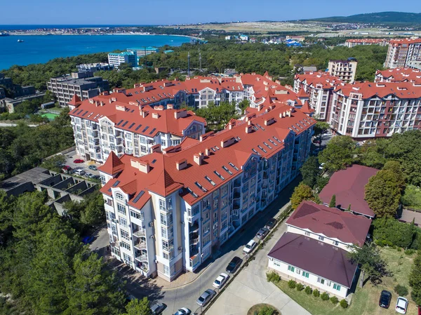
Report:
<svg viewBox="0 0 421 315"><path fill-rule="evenodd" d="M267 255L346 288L351 288L357 267L346 250L288 232Z"/></svg>

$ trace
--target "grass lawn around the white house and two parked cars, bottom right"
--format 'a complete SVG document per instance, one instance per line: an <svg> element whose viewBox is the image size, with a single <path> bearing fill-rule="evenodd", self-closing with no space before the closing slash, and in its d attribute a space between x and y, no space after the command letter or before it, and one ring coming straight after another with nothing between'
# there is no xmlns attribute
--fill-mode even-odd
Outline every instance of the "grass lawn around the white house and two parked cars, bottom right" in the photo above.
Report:
<svg viewBox="0 0 421 315"><path fill-rule="evenodd" d="M307 295L304 290L298 292L295 289L290 289L288 288L287 281L280 281L277 286L313 315L392 315L398 314L394 309L398 295L394 292L393 288L397 284L401 284L401 286L406 286L409 291L408 296L406 296L409 301L406 314L416 315L417 307L410 299L410 286L408 286L408 276L415 254L407 256L403 253L403 250L399 252L396 249L387 247L381 248L381 254L387 262L388 270L393 275L385 277L383 282L377 287L368 282L363 288L357 288L354 297L352 297L352 302L347 309L342 309L339 303L334 305L330 301L321 300L320 297ZM390 302L389 309L382 309L378 306L382 290L389 290L392 293L392 301Z"/></svg>

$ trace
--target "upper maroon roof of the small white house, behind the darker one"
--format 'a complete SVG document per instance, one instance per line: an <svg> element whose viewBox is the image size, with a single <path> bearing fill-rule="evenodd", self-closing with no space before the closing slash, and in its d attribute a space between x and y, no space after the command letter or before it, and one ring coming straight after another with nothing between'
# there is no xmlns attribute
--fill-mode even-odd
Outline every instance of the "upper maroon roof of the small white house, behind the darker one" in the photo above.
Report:
<svg viewBox="0 0 421 315"><path fill-rule="evenodd" d="M363 246L371 220L338 208L318 205L313 201L302 201L286 224L309 229L316 234L324 234L344 243Z"/></svg>

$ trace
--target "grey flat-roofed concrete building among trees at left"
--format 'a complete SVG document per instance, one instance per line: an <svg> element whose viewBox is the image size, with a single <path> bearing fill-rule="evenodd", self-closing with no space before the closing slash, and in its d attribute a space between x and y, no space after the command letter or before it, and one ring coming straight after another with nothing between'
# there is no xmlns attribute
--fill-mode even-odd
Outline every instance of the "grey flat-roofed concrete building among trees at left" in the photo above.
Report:
<svg viewBox="0 0 421 315"><path fill-rule="evenodd" d="M64 76L56 76L47 82L48 91L53 92L61 107L66 107L73 95L81 100L93 98L103 91L108 91L108 81L100 76L93 76L93 72L72 72Z"/></svg>

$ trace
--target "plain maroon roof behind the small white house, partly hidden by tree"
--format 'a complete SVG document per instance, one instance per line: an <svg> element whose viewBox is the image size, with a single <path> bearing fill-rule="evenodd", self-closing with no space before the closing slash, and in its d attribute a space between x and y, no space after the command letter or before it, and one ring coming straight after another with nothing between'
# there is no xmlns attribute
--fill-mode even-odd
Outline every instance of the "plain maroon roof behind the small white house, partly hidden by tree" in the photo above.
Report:
<svg viewBox="0 0 421 315"><path fill-rule="evenodd" d="M351 205L352 212L374 217L373 210L364 199L366 195L365 186L370 177L379 170L354 164L345 170L335 172L320 192L319 197L323 203L330 203L333 195L336 196L336 204L346 209Z"/></svg>

